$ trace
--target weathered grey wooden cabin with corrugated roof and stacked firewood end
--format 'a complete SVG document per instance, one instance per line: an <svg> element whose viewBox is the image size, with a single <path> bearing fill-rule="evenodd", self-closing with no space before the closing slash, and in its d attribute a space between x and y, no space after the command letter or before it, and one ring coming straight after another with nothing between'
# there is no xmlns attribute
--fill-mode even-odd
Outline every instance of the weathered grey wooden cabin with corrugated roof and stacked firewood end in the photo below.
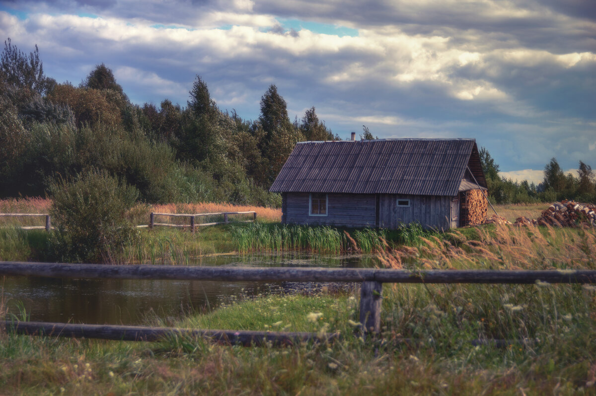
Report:
<svg viewBox="0 0 596 396"><path fill-rule="evenodd" d="M269 191L295 224L445 230L483 222L488 205L474 139L300 142Z"/></svg>

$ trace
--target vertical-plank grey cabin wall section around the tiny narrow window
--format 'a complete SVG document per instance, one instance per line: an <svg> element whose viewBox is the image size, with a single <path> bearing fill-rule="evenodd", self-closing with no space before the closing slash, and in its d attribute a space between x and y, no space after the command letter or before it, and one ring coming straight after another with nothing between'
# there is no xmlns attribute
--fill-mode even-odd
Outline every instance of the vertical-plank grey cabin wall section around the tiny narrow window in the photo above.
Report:
<svg viewBox="0 0 596 396"><path fill-rule="evenodd" d="M398 206L409 199L409 207ZM395 229L401 223L419 222L425 228L449 229L452 197L435 195L379 194L379 227Z"/></svg>

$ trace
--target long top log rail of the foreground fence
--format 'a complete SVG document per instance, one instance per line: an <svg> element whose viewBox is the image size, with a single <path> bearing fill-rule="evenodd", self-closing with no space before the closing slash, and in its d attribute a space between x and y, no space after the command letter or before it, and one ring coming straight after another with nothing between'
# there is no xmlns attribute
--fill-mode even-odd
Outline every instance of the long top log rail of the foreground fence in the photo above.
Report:
<svg viewBox="0 0 596 396"><path fill-rule="evenodd" d="M246 280L381 283L596 283L596 270L390 270L307 267L197 267L0 261L0 275L79 279Z"/></svg>

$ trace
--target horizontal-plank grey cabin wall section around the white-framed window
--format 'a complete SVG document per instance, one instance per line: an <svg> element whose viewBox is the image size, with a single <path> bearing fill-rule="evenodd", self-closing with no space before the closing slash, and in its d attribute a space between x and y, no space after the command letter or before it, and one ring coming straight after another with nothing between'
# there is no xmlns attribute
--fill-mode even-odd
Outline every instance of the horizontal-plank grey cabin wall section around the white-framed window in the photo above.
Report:
<svg viewBox="0 0 596 396"><path fill-rule="evenodd" d="M375 226L374 194L328 194L327 216L309 216L308 193L284 193L284 223L347 227Z"/></svg>

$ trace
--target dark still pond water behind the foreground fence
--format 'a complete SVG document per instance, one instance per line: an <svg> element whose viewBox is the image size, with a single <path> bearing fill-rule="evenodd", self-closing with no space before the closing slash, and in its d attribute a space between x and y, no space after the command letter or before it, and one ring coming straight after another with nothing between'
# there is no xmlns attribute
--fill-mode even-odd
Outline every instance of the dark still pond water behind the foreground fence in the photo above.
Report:
<svg viewBox="0 0 596 396"><path fill-rule="evenodd" d="M217 255L202 266L368 267L373 257L345 255ZM197 263L198 264L198 263ZM321 283L213 282L202 280L61 279L4 277L0 288L9 313L39 322L144 325L148 317L170 322L189 311L208 311L231 296L315 292ZM333 288L353 285L326 285ZM22 319L21 319L22 320Z"/></svg>

